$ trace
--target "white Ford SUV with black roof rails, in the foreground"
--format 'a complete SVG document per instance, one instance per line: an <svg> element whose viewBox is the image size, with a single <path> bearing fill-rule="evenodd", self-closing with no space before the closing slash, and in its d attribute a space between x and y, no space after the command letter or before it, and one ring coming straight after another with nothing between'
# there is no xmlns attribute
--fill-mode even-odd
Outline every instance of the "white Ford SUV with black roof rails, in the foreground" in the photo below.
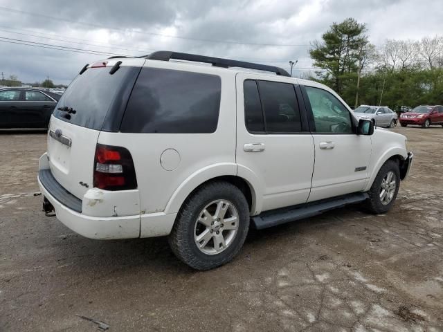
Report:
<svg viewBox="0 0 443 332"><path fill-rule="evenodd" d="M46 214L84 237L168 235L207 270L233 259L250 225L356 202L387 212L412 160L404 136L356 120L327 86L161 51L82 68L51 118L38 183Z"/></svg>

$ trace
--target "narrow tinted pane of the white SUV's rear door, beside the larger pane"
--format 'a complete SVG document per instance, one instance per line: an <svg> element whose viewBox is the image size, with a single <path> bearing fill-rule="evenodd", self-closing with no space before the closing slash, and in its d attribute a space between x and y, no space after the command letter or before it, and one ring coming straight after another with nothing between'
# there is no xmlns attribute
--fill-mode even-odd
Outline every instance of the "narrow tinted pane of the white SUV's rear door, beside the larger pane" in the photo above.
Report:
<svg viewBox="0 0 443 332"><path fill-rule="evenodd" d="M257 83L254 80L244 81L243 93L246 129L251 132L264 132L263 111Z"/></svg>

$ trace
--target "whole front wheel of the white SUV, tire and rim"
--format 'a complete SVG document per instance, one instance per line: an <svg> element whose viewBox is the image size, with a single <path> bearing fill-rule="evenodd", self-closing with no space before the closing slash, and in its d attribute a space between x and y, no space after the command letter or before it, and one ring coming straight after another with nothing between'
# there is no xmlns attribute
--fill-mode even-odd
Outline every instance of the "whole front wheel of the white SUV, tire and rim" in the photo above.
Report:
<svg viewBox="0 0 443 332"><path fill-rule="evenodd" d="M388 187L389 190L385 190L388 194L392 194L390 199L389 197L382 196L383 195L383 188L382 184L385 185L386 177L388 177L388 174L392 174L392 180L395 180L395 187L392 187L392 180L390 181L391 186ZM388 160L386 163L381 166L381 169L379 170L379 173L375 177L374 183L372 183L372 186L368 192L369 199L365 202L366 208L369 210L369 212L374 214L380 214L385 213L392 208L393 203L395 202L395 199L397 198L397 194L399 192L400 187L400 171L399 171L399 165L394 160ZM389 196L389 194L388 194ZM385 200L382 201L381 197L383 197Z"/></svg>

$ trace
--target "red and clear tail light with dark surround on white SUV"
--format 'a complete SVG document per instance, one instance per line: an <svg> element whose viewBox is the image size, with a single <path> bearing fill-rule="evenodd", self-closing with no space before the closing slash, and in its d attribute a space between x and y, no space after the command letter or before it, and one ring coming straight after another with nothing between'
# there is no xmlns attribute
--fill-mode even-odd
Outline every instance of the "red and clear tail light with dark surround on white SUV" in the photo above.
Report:
<svg viewBox="0 0 443 332"><path fill-rule="evenodd" d="M98 144L94 160L94 187L103 190L137 188L132 156L124 147Z"/></svg>

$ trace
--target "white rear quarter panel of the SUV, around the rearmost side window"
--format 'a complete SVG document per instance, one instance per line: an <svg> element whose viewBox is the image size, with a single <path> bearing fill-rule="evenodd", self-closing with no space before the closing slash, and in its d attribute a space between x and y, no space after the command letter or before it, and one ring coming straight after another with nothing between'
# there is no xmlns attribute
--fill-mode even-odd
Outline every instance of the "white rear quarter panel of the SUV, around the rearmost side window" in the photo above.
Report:
<svg viewBox="0 0 443 332"><path fill-rule="evenodd" d="M165 66L165 64L167 66ZM145 66L208 73L204 66L150 60ZM221 100L214 133L110 133L102 131L98 142L125 147L132 154L140 192L141 213L176 213L188 194L202 182L220 175L235 175L235 75L213 68L221 78ZM163 151L180 156L176 169L166 170ZM168 210L165 210L168 205Z"/></svg>

